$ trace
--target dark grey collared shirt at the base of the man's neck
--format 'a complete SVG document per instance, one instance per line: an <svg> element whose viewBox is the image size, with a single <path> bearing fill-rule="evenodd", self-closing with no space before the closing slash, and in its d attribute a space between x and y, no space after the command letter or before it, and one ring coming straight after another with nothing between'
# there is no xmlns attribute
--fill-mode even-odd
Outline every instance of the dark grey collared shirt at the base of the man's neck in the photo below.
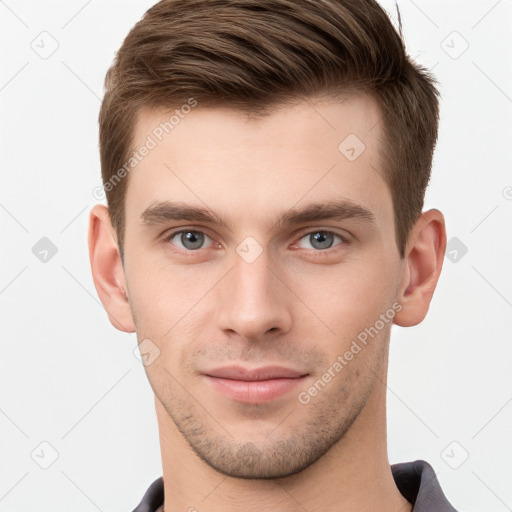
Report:
<svg viewBox="0 0 512 512"><path fill-rule="evenodd" d="M457 512L446 499L432 466L424 460L393 464L391 472L398 490L414 505L413 512ZM133 512L162 512L163 477L148 488Z"/></svg>

